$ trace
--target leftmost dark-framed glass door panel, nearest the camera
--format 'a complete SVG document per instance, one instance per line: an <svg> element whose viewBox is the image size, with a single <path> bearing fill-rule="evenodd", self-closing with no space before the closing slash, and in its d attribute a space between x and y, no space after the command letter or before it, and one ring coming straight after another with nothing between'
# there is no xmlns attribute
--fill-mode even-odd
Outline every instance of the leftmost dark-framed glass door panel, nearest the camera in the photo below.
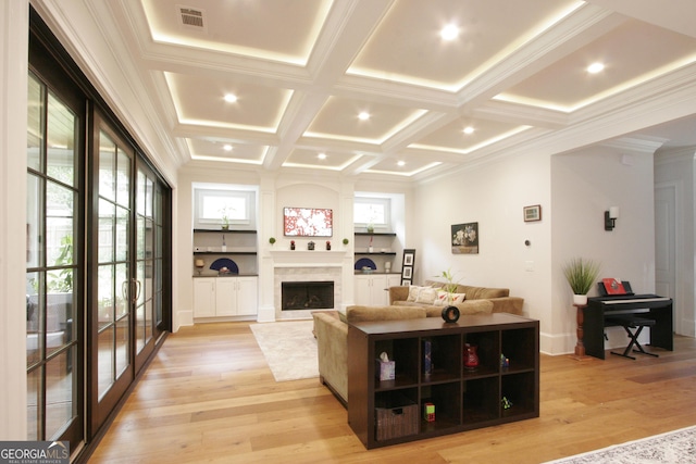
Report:
<svg viewBox="0 0 696 464"><path fill-rule="evenodd" d="M83 439L84 100L28 76L27 439Z"/></svg>

